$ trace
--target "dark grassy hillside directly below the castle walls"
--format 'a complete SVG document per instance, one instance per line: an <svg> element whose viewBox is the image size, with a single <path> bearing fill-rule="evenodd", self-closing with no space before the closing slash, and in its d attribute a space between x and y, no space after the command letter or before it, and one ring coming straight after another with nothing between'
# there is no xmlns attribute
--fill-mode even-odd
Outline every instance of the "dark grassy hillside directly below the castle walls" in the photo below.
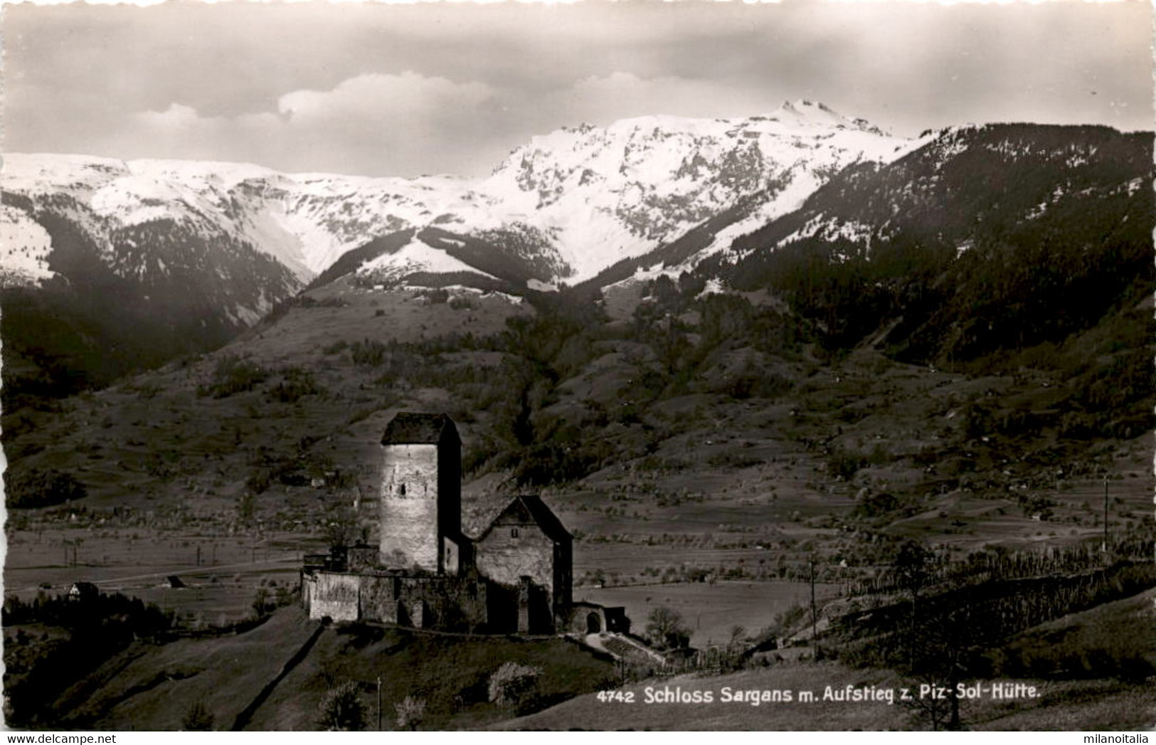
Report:
<svg viewBox="0 0 1156 745"><path fill-rule="evenodd" d="M230 729L261 689L317 630L299 608L277 611L238 635L134 646L74 686L58 702L65 724L111 730L176 730L200 701L214 729ZM361 685L369 729L376 724L376 687L383 679L385 729L394 705L413 695L427 701L436 729L469 729L510 716L487 701L487 680L504 662L543 670L543 705L596 689L610 679L609 661L557 639L460 637L383 627L329 627L305 658L273 688L245 729L316 729L325 692L338 683Z"/></svg>

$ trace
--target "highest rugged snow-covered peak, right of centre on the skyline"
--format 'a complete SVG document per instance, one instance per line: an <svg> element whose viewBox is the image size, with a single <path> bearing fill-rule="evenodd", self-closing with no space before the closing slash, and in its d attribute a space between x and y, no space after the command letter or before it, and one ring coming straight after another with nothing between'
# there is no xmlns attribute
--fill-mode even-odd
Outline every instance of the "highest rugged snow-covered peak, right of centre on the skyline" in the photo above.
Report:
<svg viewBox="0 0 1156 745"><path fill-rule="evenodd" d="M483 189L555 239L572 268L560 279L583 281L741 205L694 258L710 255L847 165L889 162L914 145L808 101L747 119L642 117L534 138Z"/></svg>

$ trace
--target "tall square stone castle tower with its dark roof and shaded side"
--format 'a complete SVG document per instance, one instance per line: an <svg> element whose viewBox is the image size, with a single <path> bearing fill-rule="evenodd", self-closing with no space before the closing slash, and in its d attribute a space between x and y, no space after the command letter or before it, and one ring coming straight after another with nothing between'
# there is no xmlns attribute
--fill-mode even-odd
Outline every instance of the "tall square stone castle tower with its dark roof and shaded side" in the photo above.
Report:
<svg viewBox="0 0 1156 745"><path fill-rule="evenodd" d="M402 412L381 436L380 561L457 574L461 539L461 438L445 414Z"/></svg>

